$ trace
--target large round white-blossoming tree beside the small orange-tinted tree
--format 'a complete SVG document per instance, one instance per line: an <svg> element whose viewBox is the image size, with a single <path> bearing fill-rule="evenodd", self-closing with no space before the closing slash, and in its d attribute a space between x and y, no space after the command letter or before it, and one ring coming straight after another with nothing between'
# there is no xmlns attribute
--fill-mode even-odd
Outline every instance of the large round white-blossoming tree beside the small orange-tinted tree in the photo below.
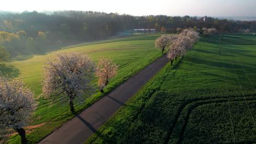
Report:
<svg viewBox="0 0 256 144"><path fill-rule="evenodd" d="M77 52L59 53L57 59L48 61L44 67L43 94L59 95L74 112L75 99L81 102L93 94L94 72L95 64L90 57Z"/></svg>

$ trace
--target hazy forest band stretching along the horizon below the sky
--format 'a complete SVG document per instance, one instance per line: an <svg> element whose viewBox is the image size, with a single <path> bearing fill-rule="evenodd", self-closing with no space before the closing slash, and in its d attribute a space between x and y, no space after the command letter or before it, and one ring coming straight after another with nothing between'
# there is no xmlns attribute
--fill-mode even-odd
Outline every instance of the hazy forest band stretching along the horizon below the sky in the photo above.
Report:
<svg viewBox="0 0 256 144"><path fill-rule="evenodd" d="M255 32L256 21L220 20L213 17L132 16L95 11L55 11L53 14L24 12L0 14L0 44L12 57L40 53L52 45L99 40L133 29L179 33L184 28L216 28L219 32Z"/></svg>

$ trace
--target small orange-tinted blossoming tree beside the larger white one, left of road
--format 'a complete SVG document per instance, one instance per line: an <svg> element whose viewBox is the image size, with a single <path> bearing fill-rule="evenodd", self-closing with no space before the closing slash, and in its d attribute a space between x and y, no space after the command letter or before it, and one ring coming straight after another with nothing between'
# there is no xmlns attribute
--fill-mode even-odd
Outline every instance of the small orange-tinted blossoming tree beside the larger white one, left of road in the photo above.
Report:
<svg viewBox="0 0 256 144"><path fill-rule="evenodd" d="M98 60L96 77L98 78L98 87L100 87L101 92L103 92L103 88L106 87L108 81L117 75L118 67L117 64L112 63L112 59L110 58L102 57Z"/></svg>

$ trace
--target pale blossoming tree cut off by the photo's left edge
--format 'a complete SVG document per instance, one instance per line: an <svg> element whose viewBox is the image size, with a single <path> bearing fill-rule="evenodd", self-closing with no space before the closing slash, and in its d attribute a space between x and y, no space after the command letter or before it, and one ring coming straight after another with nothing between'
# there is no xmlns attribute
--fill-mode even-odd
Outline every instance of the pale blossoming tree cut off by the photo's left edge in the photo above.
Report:
<svg viewBox="0 0 256 144"><path fill-rule="evenodd" d="M22 144L27 142L24 127L37 107L33 96L34 93L21 80L0 74L0 131L15 129Z"/></svg>

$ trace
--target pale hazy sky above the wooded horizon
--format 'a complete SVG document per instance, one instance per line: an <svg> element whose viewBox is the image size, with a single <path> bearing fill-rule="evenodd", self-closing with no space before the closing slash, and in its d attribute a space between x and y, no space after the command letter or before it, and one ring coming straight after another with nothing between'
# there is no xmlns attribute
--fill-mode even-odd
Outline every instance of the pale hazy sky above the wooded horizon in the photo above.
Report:
<svg viewBox="0 0 256 144"><path fill-rule="evenodd" d="M256 16L256 0L0 0L0 10L83 10L130 15Z"/></svg>

